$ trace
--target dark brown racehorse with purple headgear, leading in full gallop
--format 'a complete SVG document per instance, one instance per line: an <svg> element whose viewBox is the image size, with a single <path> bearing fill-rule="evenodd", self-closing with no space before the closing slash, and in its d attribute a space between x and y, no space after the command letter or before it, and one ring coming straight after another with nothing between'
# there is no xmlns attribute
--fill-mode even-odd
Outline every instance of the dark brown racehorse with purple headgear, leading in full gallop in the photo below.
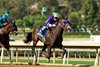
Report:
<svg viewBox="0 0 100 67"><path fill-rule="evenodd" d="M40 40L44 43L43 50L47 48L47 59L50 62L50 55L51 55L51 48L60 48L64 51L64 54L67 52L66 49L62 45L63 41L63 31L64 29L71 29L69 22L60 22L56 26L56 28L48 31L45 36L45 40L37 35L40 27L37 27L33 30L33 32L27 33L26 39L24 40L25 43L33 41L32 52L35 53L35 47L37 42Z"/></svg>

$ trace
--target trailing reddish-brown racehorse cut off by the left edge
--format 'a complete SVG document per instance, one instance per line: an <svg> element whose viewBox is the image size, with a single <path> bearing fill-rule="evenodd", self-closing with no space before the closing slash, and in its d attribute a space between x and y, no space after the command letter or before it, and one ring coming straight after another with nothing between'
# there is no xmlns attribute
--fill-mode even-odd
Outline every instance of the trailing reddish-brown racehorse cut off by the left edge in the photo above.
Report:
<svg viewBox="0 0 100 67"><path fill-rule="evenodd" d="M10 63L12 63L12 59L11 59L11 53L10 53L10 44L9 44L9 33L13 32L15 33L15 35L18 34L18 29L17 26L15 24L15 21L10 20L9 22L7 22L6 26L0 29L0 46L4 47L9 56L10 56Z"/></svg>

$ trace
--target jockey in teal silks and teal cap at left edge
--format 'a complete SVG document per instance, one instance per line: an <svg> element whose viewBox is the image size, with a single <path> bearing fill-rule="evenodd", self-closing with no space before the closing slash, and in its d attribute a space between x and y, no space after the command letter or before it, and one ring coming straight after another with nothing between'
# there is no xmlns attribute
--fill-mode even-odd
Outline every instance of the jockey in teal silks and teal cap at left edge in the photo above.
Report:
<svg viewBox="0 0 100 67"><path fill-rule="evenodd" d="M7 22L9 21L9 12L5 12L1 17L0 17L0 28L3 28Z"/></svg>

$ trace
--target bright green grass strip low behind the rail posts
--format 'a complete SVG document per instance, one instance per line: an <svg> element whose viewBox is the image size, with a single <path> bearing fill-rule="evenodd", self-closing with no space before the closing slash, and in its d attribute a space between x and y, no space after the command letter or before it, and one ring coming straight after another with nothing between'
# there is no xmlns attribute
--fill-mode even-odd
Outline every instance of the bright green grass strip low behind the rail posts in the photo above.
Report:
<svg viewBox="0 0 100 67"><path fill-rule="evenodd" d="M16 62L15 59L12 59L13 62ZM9 62L9 59L4 58L3 62ZM19 63L32 63L32 59L18 59ZM46 59L39 60L39 63L48 63ZM53 64L53 60L50 60L50 64ZM56 60L55 64L63 64L62 60ZM67 64L67 61L66 61ZM94 61L76 61L76 60L69 60L68 64L88 64L88 65L93 65Z"/></svg>

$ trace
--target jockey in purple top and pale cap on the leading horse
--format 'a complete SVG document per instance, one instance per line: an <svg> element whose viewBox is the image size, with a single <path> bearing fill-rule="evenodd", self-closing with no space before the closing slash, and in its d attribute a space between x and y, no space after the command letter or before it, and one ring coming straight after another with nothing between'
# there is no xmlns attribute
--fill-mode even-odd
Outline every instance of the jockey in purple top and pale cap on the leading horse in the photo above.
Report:
<svg viewBox="0 0 100 67"><path fill-rule="evenodd" d="M59 22L59 17L60 17L60 16L59 16L58 13L54 13L53 16L50 16L50 17L47 19L47 21L46 21L44 27L42 28L42 33L44 34L45 31L46 31L47 29L51 29L51 28L56 27L56 25L57 25L58 22Z"/></svg>

